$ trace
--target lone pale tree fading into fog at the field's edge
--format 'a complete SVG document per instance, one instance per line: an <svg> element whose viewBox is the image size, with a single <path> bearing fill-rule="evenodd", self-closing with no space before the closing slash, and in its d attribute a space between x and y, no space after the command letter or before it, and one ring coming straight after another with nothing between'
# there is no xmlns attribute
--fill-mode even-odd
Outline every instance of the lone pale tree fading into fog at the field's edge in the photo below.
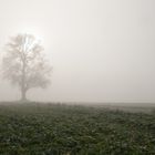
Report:
<svg viewBox="0 0 155 155"><path fill-rule="evenodd" d="M28 90L44 89L50 83L51 66L42 51L40 42L31 34L18 34L7 44L3 78L20 89L21 101L27 101Z"/></svg>

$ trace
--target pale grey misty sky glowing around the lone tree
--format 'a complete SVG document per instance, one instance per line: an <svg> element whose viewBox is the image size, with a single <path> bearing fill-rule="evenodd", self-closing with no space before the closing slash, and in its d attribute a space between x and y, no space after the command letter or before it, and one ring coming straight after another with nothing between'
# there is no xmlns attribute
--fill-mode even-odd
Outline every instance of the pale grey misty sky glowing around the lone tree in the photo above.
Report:
<svg viewBox="0 0 155 155"><path fill-rule="evenodd" d="M0 0L0 56L9 37L42 40L52 84L29 99L155 102L155 0ZM0 80L0 100L20 92Z"/></svg>

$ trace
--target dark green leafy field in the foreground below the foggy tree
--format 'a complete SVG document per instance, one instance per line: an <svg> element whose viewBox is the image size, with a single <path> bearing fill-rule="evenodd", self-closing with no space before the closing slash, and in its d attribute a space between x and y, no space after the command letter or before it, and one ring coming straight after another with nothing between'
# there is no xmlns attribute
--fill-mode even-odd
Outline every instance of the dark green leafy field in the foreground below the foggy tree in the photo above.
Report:
<svg viewBox="0 0 155 155"><path fill-rule="evenodd" d="M0 155L155 155L155 112L1 104Z"/></svg>

